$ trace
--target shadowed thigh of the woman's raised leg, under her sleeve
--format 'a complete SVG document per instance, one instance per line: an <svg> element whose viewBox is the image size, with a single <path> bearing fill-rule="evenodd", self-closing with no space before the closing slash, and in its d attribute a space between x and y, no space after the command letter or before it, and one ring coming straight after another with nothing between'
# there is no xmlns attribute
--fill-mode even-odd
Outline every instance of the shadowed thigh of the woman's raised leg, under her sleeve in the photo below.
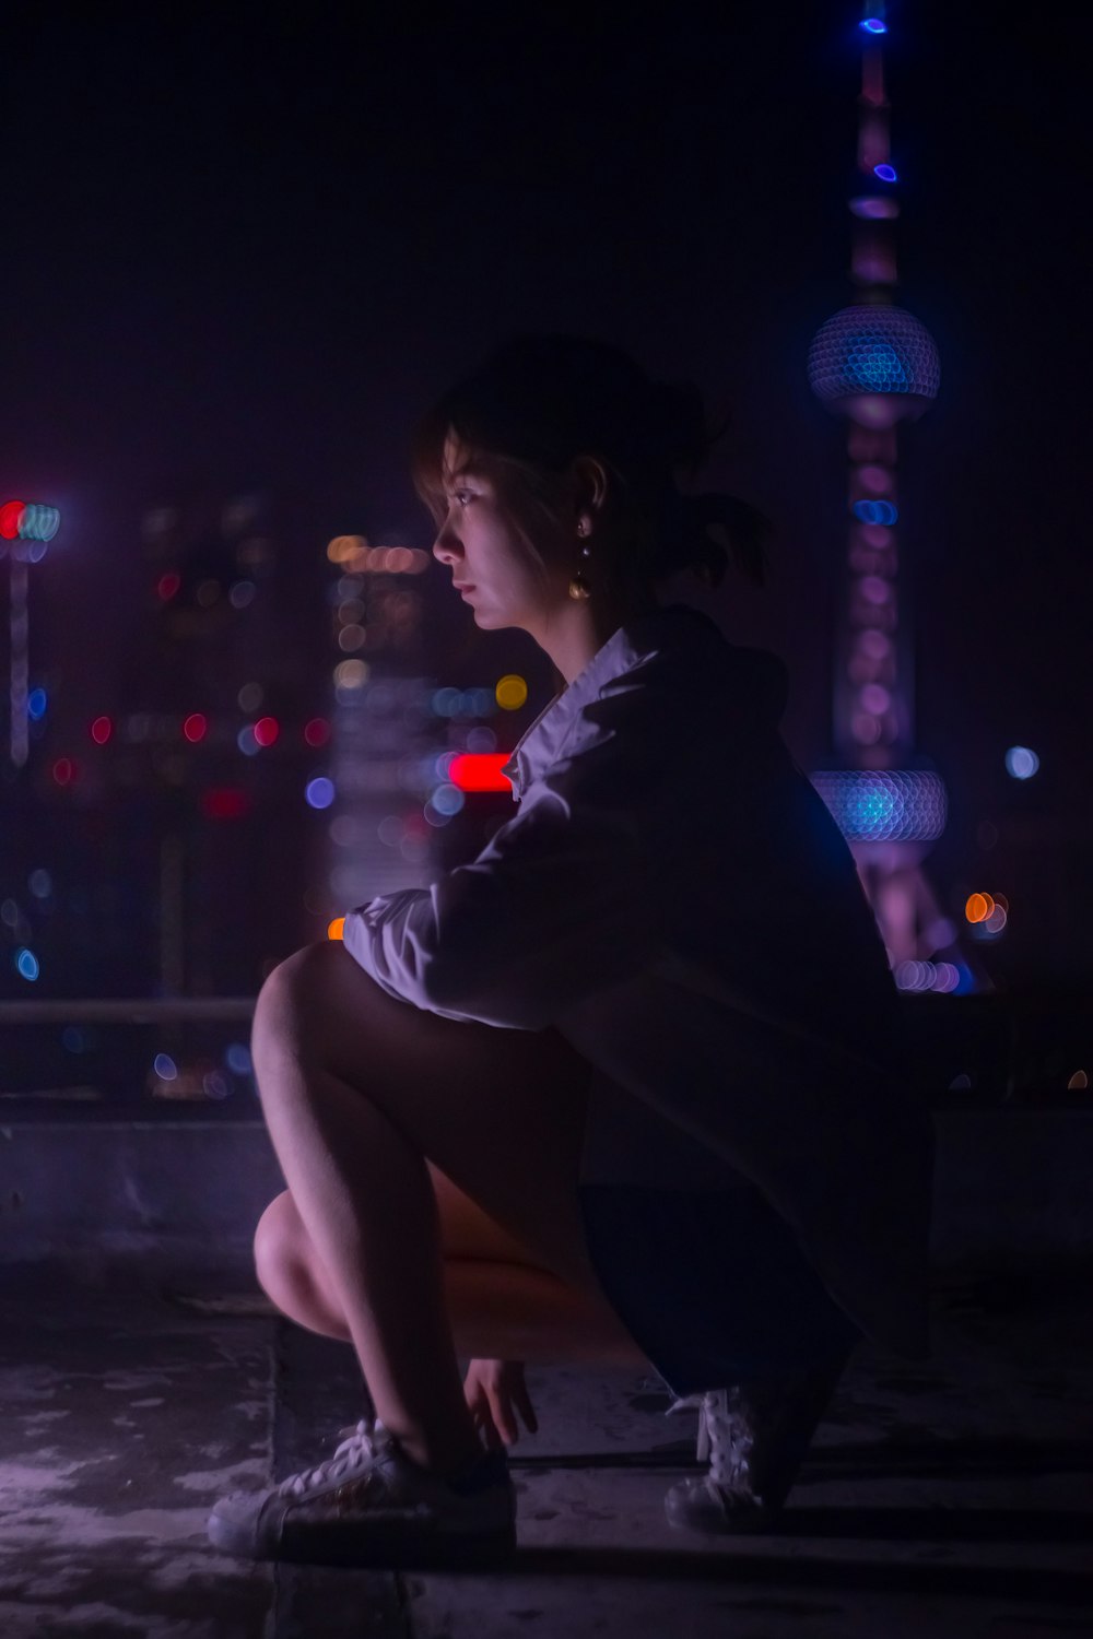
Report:
<svg viewBox="0 0 1093 1639"><path fill-rule="evenodd" d="M415 1008L328 942L288 957L262 987L254 1062L264 1100L280 1051L380 1108L526 1260L603 1296L577 1198L590 1069L562 1036ZM441 1180L438 1200L442 1190ZM472 1213L462 1228L474 1236Z"/></svg>

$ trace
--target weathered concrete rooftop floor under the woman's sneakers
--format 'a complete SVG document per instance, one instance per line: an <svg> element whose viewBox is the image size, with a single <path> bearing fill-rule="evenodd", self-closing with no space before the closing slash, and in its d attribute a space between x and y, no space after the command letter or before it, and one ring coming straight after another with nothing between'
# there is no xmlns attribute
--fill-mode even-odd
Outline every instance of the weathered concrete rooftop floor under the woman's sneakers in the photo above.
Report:
<svg viewBox="0 0 1093 1639"><path fill-rule="evenodd" d="M696 1413L665 1419L655 1378L533 1369L518 1557L434 1575L206 1544L216 1496L320 1460L364 1413L346 1347L275 1319L243 1274L8 1267L0 1639L1093 1634L1091 1274L944 1277L934 1359L859 1349L762 1537L667 1526Z"/></svg>

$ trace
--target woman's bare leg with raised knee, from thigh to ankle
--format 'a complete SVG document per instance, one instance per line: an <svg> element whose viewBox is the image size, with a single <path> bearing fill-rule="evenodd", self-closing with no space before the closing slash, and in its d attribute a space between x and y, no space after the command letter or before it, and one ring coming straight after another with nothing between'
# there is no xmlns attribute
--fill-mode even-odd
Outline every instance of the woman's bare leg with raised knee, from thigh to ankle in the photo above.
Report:
<svg viewBox="0 0 1093 1639"><path fill-rule="evenodd" d="M556 1033L441 1019L388 997L339 944L310 946L262 987L254 1067L315 1267L413 1460L449 1473L482 1451L429 1167L634 1347L577 1203L588 1065Z"/></svg>

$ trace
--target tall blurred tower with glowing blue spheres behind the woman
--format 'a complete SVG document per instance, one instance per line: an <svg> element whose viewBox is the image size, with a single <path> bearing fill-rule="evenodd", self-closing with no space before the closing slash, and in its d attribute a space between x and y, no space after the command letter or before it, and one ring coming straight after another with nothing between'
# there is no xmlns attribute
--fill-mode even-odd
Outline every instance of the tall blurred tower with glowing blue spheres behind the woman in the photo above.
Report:
<svg viewBox="0 0 1093 1639"><path fill-rule="evenodd" d="M893 303L900 215L891 164L883 3L865 10L859 98L859 185L852 215L850 306L821 325L810 385L847 420L847 561L834 651L832 767L813 785L834 815L877 915L901 990L977 988L921 862L944 831L941 775L914 752L913 652L900 597L896 429L931 408L941 384L924 325ZM906 600L905 600L906 602Z"/></svg>

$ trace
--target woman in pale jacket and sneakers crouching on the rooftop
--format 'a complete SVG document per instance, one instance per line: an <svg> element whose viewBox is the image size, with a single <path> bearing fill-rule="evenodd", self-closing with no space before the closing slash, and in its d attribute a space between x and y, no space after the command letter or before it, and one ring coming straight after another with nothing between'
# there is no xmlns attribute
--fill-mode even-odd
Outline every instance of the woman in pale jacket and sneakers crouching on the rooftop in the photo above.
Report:
<svg viewBox="0 0 1093 1639"><path fill-rule="evenodd" d="M718 583L713 529L760 579L764 520L677 487L706 447L693 388L557 336L501 347L420 428L436 561L565 687L474 862L262 987L288 1188L259 1280L352 1342L375 1416L218 1503L231 1552L511 1550L528 1360L652 1367L711 1455L670 1523L765 1526L854 1342L927 1352L932 1131L872 913L778 736L780 662L657 598L687 565Z"/></svg>

